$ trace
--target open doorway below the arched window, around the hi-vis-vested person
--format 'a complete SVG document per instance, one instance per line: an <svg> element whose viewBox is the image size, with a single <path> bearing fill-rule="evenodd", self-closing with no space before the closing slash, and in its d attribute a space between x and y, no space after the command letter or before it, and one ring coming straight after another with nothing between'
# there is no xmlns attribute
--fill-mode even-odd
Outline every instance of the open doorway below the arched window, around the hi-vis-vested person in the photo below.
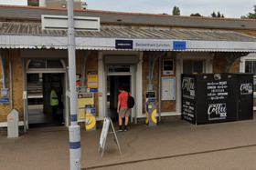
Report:
<svg viewBox="0 0 256 170"><path fill-rule="evenodd" d="M27 120L29 128L60 126L63 124L63 91L65 74L27 74ZM57 113L50 105L52 87L56 87L59 97Z"/></svg>

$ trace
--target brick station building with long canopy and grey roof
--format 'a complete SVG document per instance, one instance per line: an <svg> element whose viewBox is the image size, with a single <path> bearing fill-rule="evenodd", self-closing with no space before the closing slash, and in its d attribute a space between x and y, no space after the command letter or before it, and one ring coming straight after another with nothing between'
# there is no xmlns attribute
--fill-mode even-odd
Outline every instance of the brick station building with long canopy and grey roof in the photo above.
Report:
<svg viewBox="0 0 256 170"><path fill-rule="evenodd" d="M26 130L39 123L38 113L50 115L52 86L61 97L64 125L69 126L67 31L42 30L41 15L68 13L0 5L2 127L14 108ZM146 97L154 98L158 116L181 115L181 74L256 72L255 20L77 9L74 15L101 19L100 32L76 31L78 80L89 87L91 75L97 78L91 91L97 121L106 115L117 118L120 85L135 98L131 122L137 122L146 116Z"/></svg>

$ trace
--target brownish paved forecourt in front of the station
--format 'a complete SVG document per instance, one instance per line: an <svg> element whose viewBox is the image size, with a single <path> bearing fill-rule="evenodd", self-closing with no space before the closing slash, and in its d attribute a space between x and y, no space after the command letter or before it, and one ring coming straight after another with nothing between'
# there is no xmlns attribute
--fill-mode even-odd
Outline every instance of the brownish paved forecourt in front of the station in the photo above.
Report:
<svg viewBox="0 0 256 170"><path fill-rule="evenodd" d="M91 132L81 128L81 167L83 170L255 170L255 134L256 120L192 125L176 119L151 127L141 123L117 133L122 155L109 134L101 158L98 152L101 125ZM0 135L0 169L68 170L68 128L34 128L20 132L17 138Z"/></svg>

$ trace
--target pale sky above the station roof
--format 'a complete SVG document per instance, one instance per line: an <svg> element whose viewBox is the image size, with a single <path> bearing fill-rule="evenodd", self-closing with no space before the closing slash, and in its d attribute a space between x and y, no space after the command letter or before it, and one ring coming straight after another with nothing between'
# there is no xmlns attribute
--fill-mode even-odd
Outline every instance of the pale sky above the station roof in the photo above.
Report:
<svg viewBox="0 0 256 170"><path fill-rule="evenodd" d="M82 0L89 9L172 15L174 6L180 9L180 15L199 13L209 16L213 11L223 14L226 18L240 18L241 15L254 13L255 0ZM0 5L27 5L27 0L0 0Z"/></svg>

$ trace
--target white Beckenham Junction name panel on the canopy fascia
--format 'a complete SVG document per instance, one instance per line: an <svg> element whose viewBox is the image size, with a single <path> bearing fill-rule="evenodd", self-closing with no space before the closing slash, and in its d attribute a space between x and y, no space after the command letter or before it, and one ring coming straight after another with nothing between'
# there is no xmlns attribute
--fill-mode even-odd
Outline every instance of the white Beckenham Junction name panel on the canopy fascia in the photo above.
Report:
<svg viewBox="0 0 256 170"><path fill-rule="evenodd" d="M133 49L171 50L173 49L173 41L133 40Z"/></svg>

